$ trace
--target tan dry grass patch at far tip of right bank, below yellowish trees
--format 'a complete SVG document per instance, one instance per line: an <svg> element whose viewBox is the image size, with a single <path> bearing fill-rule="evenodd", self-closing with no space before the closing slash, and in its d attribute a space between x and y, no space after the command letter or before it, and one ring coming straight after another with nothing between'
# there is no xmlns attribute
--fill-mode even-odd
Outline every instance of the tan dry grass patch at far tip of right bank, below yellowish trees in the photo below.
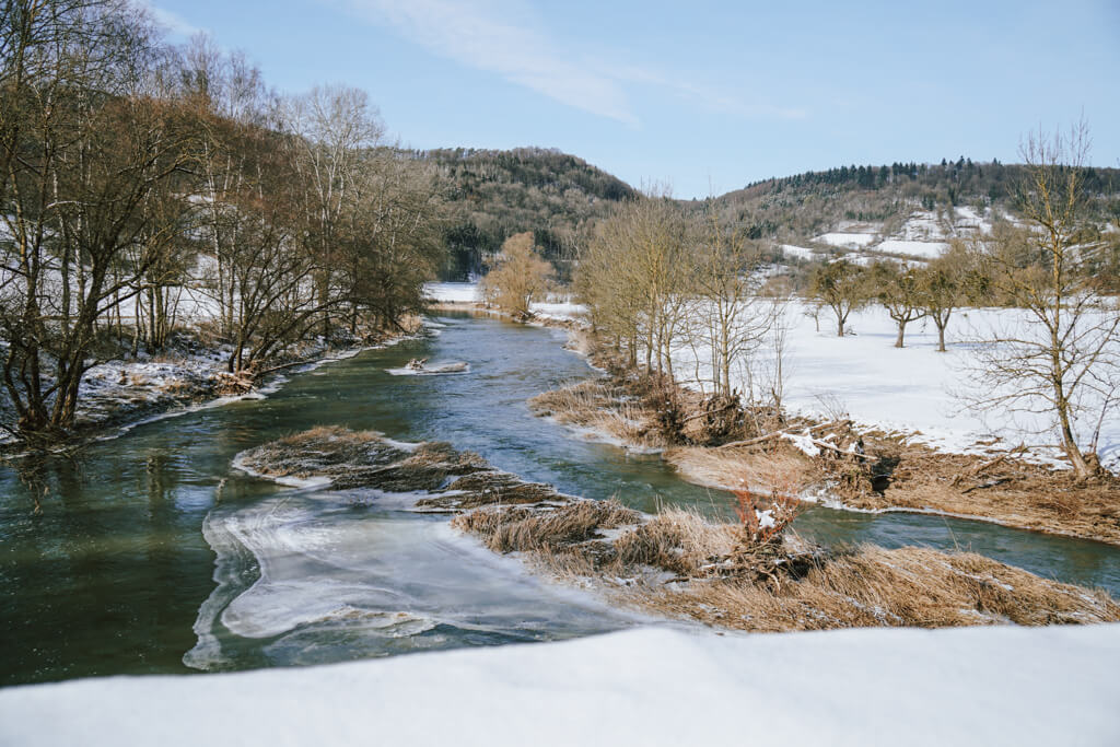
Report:
<svg viewBox="0 0 1120 747"><path fill-rule="evenodd" d="M561 423L588 428L633 446L665 446L645 408L616 384L582 381L538 394L529 401L529 407L539 415L551 415Z"/></svg>

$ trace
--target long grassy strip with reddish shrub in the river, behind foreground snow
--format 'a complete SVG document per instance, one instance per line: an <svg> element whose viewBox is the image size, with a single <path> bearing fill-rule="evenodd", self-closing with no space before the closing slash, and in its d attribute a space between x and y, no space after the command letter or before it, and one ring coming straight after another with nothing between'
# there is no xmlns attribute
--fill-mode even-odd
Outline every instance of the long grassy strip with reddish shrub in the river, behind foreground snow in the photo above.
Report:
<svg viewBox="0 0 1120 747"><path fill-rule="evenodd" d="M715 627L1120 620L1120 605L1103 591L973 553L814 547L781 532L788 517L776 499L745 503L750 513L741 525L679 510L651 516L522 482L446 443L402 445L344 428L267 443L239 455L235 466L284 484L374 491L371 501L454 514L454 527L549 577L616 605Z"/></svg>

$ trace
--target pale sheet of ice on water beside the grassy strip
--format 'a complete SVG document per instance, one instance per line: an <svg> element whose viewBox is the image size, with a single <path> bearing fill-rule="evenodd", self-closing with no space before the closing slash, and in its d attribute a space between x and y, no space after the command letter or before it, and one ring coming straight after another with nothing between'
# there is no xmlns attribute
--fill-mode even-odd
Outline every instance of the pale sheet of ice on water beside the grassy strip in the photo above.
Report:
<svg viewBox="0 0 1120 747"><path fill-rule="evenodd" d="M402 511L419 494L390 497L289 492L215 508L205 535L217 553L217 588L184 661L205 670L262 657L321 663L567 638L634 622L494 555L446 516Z"/></svg>

